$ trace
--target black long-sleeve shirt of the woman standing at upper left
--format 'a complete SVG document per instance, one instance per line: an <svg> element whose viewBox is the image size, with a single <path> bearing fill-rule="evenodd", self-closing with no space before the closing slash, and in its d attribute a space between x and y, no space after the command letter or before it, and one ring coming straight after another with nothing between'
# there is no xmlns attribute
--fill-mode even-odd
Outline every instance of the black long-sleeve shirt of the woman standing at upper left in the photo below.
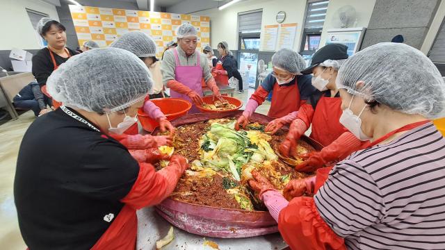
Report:
<svg viewBox="0 0 445 250"><path fill-rule="evenodd" d="M70 52L71 56L77 55L76 51L73 51L72 49L68 49L68 52ZM63 58L59 56L56 53L54 54L54 60L56 60L57 65L61 65L62 63L65 63L69 58ZM39 83L40 87L47 84L47 79L51 75L51 73L54 71L54 63L51 60L51 56L49 55L49 49L43 48L40 49L35 55L33 56L33 75L35 77L35 80Z"/></svg>

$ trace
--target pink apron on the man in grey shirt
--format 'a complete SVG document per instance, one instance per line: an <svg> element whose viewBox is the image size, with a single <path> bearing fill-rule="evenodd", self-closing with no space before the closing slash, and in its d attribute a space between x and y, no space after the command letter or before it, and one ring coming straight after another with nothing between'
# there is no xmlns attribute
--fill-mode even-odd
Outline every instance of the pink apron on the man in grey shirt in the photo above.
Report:
<svg viewBox="0 0 445 250"><path fill-rule="evenodd" d="M186 85L188 88L195 91L202 97L202 87L201 87L202 68L200 63L200 53L195 52L197 60L196 66L181 66L177 49L173 49L173 53L175 54L175 62L176 62L175 80L179 81L179 83ZM196 108L195 103L193 103L193 101L190 98L188 98L186 94L179 94L174 90L170 90L170 97L184 99L192 103L192 108L190 111L188 111L188 114L200 113L200 110Z"/></svg>

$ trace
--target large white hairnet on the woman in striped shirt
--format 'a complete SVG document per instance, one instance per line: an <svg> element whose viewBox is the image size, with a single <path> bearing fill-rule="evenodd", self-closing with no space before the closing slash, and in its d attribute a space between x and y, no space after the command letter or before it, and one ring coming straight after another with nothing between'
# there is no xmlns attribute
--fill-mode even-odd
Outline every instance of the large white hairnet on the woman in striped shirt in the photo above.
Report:
<svg viewBox="0 0 445 250"><path fill-rule="evenodd" d="M357 87L357 82L364 85ZM337 87L393 110L430 119L445 116L445 83L421 51L382 42L355 53L337 75Z"/></svg>

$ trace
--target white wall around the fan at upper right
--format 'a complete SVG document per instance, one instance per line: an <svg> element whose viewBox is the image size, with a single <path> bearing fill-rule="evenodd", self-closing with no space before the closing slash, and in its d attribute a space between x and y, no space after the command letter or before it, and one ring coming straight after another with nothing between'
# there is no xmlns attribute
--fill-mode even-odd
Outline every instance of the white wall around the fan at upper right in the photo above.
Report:
<svg viewBox="0 0 445 250"><path fill-rule="evenodd" d="M335 12L337 12L339 8L346 5L353 6L357 12L357 24L355 26L351 26L350 28L368 27L369 20L371 19L371 15L373 13L375 0L330 0L329 5L327 6L325 24L321 33L320 47L325 46L325 39L328 29L340 28L336 27L335 22L333 22L334 18L336 18Z"/></svg>

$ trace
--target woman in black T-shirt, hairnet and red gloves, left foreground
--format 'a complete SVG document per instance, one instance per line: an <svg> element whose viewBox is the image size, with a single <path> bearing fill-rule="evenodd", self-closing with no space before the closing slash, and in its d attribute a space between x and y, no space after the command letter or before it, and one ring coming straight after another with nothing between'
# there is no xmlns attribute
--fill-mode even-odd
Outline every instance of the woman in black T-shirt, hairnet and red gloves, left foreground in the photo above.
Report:
<svg viewBox="0 0 445 250"><path fill-rule="evenodd" d="M64 106L38 117L19 149L14 196L24 242L135 249L136 210L168 197L188 167L173 155L156 172L159 152L138 163L110 137L136 122L152 88L147 66L123 49L92 49L61 65L47 85Z"/></svg>

